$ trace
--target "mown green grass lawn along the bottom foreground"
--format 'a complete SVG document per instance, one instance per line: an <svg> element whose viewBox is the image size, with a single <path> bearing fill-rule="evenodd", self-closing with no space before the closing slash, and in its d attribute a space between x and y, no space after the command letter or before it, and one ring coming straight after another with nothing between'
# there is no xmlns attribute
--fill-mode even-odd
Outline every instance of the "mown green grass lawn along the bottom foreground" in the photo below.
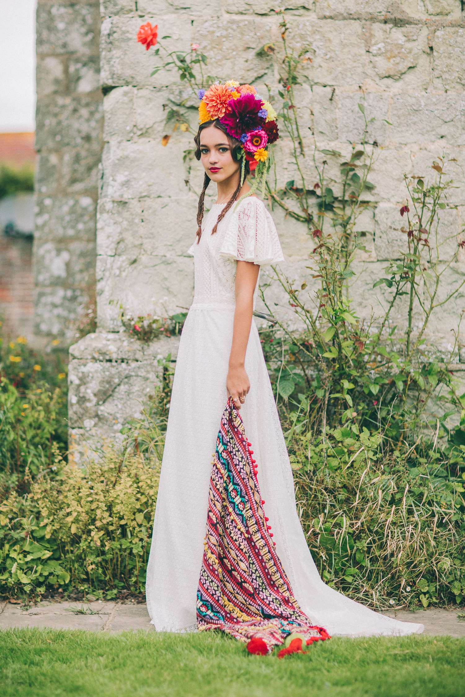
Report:
<svg viewBox="0 0 465 697"><path fill-rule="evenodd" d="M278 659L216 632L6 629L0 676L2 697L461 697L465 640L333 638Z"/></svg>

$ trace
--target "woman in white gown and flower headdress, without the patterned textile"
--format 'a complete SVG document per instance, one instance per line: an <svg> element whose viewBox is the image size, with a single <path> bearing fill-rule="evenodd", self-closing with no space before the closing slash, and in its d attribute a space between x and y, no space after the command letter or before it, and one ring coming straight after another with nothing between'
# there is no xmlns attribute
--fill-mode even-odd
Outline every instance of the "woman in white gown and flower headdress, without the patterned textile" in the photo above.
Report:
<svg viewBox="0 0 465 697"><path fill-rule="evenodd" d="M284 261L273 218L254 194L278 138L276 113L250 85L229 81L199 91L197 160L204 167L194 257L195 292L183 325L146 575L146 602L158 631L197 631L197 589L212 456L224 406L234 401L253 444L274 549L291 595L330 635L420 633L323 583L296 510L280 419L252 321L264 264ZM246 177L255 168L254 187ZM211 182L217 201L206 215ZM176 212L173 212L176 215Z"/></svg>

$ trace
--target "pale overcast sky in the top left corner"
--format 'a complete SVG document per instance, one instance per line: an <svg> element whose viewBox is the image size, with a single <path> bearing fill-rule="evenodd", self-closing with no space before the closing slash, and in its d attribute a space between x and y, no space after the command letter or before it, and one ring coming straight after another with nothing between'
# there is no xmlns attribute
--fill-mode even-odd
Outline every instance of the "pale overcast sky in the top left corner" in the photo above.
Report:
<svg viewBox="0 0 465 697"><path fill-rule="evenodd" d="M0 132L36 130L36 0L0 0Z"/></svg>

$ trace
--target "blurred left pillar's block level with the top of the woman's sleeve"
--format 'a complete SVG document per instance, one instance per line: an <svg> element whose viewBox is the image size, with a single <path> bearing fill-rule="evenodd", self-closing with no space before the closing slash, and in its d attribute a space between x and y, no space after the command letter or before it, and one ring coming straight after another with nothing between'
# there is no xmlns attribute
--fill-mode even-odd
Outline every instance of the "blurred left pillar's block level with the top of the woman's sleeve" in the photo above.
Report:
<svg viewBox="0 0 465 697"><path fill-rule="evenodd" d="M96 202L89 196L36 197L36 240L96 238Z"/></svg>

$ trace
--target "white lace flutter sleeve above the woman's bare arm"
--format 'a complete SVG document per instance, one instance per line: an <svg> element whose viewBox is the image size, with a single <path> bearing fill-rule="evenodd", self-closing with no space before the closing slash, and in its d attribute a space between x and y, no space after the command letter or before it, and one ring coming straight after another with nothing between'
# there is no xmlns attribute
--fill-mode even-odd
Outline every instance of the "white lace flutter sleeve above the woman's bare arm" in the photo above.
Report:
<svg viewBox="0 0 465 697"><path fill-rule="evenodd" d="M261 199L249 196L233 211L220 254L260 265L285 261L273 217Z"/></svg>

